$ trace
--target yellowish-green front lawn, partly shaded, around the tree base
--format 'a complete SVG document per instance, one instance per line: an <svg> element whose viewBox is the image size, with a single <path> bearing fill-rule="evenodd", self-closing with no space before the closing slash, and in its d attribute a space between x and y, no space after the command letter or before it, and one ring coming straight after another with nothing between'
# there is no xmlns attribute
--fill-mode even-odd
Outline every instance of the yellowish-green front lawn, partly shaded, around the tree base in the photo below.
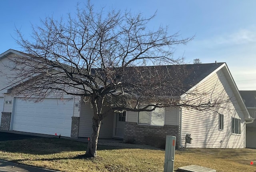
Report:
<svg viewBox="0 0 256 172"><path fill-rule="evenodd" d="M64 172L163 172L164 150L98 146L97 158L81 158L86 143L62 138L0 142L0 159ZM218 172L254 172L254 149L176 150L174 168L200 165Z"/></svg>

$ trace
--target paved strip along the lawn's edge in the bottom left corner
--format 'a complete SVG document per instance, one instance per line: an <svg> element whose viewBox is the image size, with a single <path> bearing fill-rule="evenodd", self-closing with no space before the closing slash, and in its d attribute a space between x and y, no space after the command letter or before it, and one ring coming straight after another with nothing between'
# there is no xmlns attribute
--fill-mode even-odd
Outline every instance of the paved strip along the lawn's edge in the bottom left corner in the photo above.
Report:
<svg viewBox="0 0 256 172"><path fill-rule="evenodd" d="M34 166L26 166L15 162L0 160L0 172L58 172Z"/></svg>

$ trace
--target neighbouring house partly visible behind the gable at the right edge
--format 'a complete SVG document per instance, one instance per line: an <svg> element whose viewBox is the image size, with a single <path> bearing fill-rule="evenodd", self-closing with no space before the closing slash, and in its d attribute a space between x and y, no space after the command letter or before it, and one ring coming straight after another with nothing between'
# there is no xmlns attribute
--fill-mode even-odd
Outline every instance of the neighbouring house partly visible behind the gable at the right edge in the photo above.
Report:
<svg viewBox="0 0 256 172"><path fill-rule="evenodd" d="M250 116L256 119L256 91L239 91ZM246 148L256 148L256 120L246 124Z"/></svg>

